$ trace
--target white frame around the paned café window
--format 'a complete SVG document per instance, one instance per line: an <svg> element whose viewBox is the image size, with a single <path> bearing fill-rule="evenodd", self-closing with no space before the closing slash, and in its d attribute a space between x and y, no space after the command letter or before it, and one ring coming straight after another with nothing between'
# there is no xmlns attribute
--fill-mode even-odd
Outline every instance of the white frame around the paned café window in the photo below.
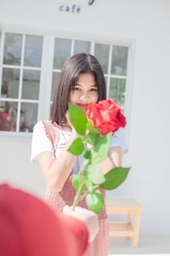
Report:
<svg viewBox="0 0 170 256"><path fill-rule="evenodd" d="M133 100L133 69L134 69L134 52L135 52L135 41L130 39L117 39L117 38L105 38L101 39L102 37L94 37L92 35L68 35L62 34L60 32L44 32L44 31L36 31L31 29L20 29L20 28L8 28L3 27L1 29L1 48L0 48L0 66L3 67L3 43L4 43L4 32L10 33L20 33L25 35L35 35L35 36L42 36L43 37L43 44L42 44L42 67L41 69L41 77L40 77L40 88L39 88L39 104L38 104L38 112L37 112L37 120L41 119L48 119L48 114L50 112L50 96L51 96L51 87L52 87L52 79L53 79L53 71L54 71L54 39L55 38L65 38L71 39L71 54L73 52L73 45L75 40L82 40L91 42L91 51L90 53L94 54L94 46L95 44L110 44L110 54L109 54L109 67L108 67L108 74L105 75L108 77L107 79L107 97L109 96L109 81L111 78L116 79L126 79L126 91L125 91L125 104L124 104L124 114L128 120L128 127L125 129L125 138L128 143L128 134L129 134L129 127L130 127L130 116L131 116L131 107L132 107L132 100ZM118 45L118 46L126 46L128 47L128 55L127 55L127 75L126 76L117 76L111 75L111 45ZM33 68L32 68L33 69ZM0 68L0 79L2 79L2 68ZM46 86L48 84L48 86ZM1 88L0 88L1 89ZM23 100L22 100L23 102ZM27 102L27 101L26 101ZM44 104L47 102L47 104ZM31 132L16 132L16 131L0 131L0 137L8 137L8 138L30 138Z"/></svg>

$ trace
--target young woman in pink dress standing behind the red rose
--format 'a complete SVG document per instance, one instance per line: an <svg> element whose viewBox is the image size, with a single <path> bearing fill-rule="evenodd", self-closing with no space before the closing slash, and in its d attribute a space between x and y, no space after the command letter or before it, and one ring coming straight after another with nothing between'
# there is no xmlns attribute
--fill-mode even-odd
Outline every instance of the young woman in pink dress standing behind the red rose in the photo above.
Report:
<svg viewBox="0 0 170 256"><path fill-rule="evenodd" d="M71 56L62 68L59 84L54 93L51 120L35 125L32 137L31 160L37 160L47 183L46 201L56 212L65 205L71 206L75 189L71 176L80 170L82 156L67 151L77 137L68 115L68 102L86 112L89 102L99 102L106 97L105 77L99 61L93 55L80 53ZM108 157L99 166L105 174L122 165L124 140L122 128L111 137ZM105 196L105 192L102 191ZM81 201L79 207L87 208ZM88 244L86 256L106 256L108 253L108 221L105 206L99 213L99 233ZM80 238L81 239L81 238Z"/></svg>

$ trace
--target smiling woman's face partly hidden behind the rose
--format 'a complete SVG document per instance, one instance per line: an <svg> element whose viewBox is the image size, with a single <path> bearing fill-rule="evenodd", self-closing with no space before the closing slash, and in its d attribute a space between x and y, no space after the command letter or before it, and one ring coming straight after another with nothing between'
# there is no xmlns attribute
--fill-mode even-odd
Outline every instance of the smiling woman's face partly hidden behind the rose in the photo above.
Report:
<svg viewBox="0 0 170 256"><path fill-rule="evenodd" d="M69 102L82 108L88 109L89 102L97 102L98 88L92 73L82 73L78 76L74 89L71 90Z"/></svg>

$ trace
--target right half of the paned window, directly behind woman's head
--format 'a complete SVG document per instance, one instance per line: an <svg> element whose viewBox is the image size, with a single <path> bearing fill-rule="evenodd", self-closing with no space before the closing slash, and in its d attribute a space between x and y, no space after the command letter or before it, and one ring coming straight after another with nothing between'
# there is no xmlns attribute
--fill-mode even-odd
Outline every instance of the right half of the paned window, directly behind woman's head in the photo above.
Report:
<svg viewBox="0 0 170 256"><path fill-rule="evenodd" d="M111 97L124 109L125 91L127 81L127 46L111 44L98 44L88 41L78 41L64 38L55 38L54 43L54 69L51 90L51 103L54 90L59 82L59 73L65 60L79 52L91 53L100 62L105 73L107 96Z"/></svg>

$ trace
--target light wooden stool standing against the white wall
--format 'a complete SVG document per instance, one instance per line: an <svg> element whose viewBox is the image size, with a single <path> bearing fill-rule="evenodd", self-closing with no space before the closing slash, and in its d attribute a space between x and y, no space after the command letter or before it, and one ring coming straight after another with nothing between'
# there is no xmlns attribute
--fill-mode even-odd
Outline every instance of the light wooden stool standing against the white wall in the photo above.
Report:
<svg viewBox="0 0 170 256"><path fill-rule="evenodd" d="M126 236L133 238L133 247L139 243L139 225L142 207L138 202L128 199L106 198L107 213L126 212L126 223L111 223L109 221L110 236ZM132 224L133 222L133 224ZM124 230L114 230L114 229Z"/></svg>

